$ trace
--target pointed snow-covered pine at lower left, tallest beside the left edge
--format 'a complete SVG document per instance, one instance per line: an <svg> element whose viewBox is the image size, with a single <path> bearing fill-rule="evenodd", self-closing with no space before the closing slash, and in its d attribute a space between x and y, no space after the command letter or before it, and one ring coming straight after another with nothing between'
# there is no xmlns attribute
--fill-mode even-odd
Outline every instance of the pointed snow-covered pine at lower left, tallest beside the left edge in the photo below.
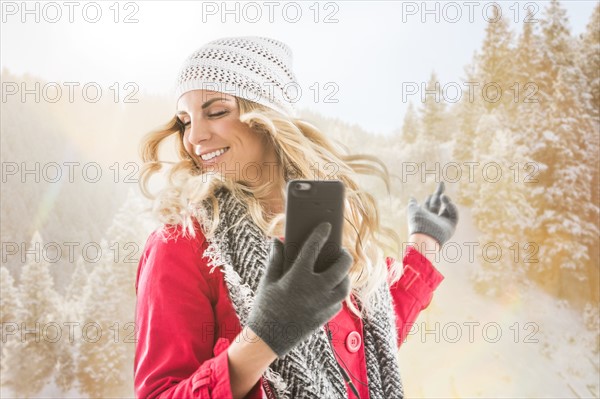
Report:
<svg viewBox="0 0 600 399"><path fill-rule="evenodd" d="M19 299L23 306L21 339L8 348L3 379L16 396L28 397L39 392L54 372L61 339L59 297L54 290L50 264L45 261L44 243L35 232L21 272Z"/></svg>

